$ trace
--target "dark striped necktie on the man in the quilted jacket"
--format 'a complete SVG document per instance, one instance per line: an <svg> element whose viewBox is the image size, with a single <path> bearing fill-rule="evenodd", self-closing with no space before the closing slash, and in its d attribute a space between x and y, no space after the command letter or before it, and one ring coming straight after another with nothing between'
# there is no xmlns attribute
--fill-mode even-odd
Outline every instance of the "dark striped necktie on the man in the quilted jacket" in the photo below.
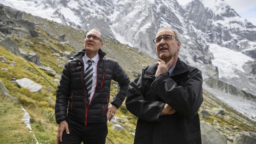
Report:
<svg viewBox="0 0 256 144"><path fill-rule="evenodd" d="M93 74L92 61L93 60L91 59L87 61L89 63L89 66L86 68L84 72L84 82L87 88L87 98L89 98L89 100L90 100L91 91L92 91L92 74ZM87 104L88 102L89 101L87 101Z"/></svg>

